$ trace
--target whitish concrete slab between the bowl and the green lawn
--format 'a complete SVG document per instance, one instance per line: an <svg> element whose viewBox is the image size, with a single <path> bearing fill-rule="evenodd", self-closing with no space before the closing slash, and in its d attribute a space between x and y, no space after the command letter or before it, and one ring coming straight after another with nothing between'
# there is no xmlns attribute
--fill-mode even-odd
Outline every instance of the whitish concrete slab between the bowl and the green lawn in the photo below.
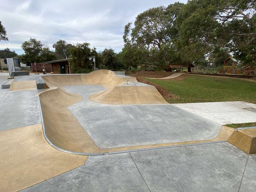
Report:
<svg viewBox="0 0 256 192"><path fill-rule="evenodd" d="M256 122L256 113L244 109L255 108L256 110L256 105L244 101L179 103L173 105L222 125Z"/></svg>

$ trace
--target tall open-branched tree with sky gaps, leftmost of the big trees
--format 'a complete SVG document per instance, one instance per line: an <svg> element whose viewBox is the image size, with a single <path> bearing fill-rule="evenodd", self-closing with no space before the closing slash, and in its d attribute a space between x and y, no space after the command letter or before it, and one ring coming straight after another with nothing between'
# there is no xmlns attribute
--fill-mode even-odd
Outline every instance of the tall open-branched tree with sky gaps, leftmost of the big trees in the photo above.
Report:
<svg viewBox="0 0 256 192"><path fill-rule="evenodd" d="M135 50L143 50L145 55L145 50L148 50L148 57L144 58L144 63L168 65L169 61L176 57L171 55L173 51L169 48L173 50L173 42L177 36L175 20L183 6L184 4L178 2L168 7L152 8L139 14L133 28L132 23L128 23L124 28L124 51L135 47ZM127 45L130 46L125 48Z"/></svg>

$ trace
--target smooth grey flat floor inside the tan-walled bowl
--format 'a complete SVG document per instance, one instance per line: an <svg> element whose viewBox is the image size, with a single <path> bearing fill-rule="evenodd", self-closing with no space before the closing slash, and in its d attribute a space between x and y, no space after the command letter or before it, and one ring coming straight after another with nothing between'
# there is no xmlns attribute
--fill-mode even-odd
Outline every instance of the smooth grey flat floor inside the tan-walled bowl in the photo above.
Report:
<svg viewBox="0 0 256 192"><path fill-rule="evenodd" d="M99 148L116 148L215 138L220 124L170 104L108 105L88 96L100 85L64 86L84 100L68 107Z"/></svg>

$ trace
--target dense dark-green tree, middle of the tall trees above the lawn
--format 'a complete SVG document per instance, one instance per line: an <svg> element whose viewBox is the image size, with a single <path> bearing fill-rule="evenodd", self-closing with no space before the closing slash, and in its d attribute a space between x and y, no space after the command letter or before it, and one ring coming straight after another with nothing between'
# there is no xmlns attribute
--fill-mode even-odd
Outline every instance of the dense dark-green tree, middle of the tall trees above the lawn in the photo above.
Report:
<svg viewBox="0 0 256 192"><path fill-rule="evenodd" d="M216 7L213 4L205 0L191 0L177 16L178 34L174 44L181 60L188 64L188 72L191 72L193 61L204 59L213 49L215 28L219 25L214 20Z"/></svg>

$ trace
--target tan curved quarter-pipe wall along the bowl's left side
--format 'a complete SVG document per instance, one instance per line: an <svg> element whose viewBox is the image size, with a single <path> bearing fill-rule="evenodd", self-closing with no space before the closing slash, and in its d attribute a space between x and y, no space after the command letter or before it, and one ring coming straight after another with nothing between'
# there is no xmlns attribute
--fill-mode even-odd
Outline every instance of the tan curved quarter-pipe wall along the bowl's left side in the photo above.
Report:
<svg viewBox="0 0 256 192"><path fill-rule="evenodd" d="M82 96L56 88L42 92L39 99L45 133L54 145L74 152L94 153L99 149L67 108Z"/></svg>

